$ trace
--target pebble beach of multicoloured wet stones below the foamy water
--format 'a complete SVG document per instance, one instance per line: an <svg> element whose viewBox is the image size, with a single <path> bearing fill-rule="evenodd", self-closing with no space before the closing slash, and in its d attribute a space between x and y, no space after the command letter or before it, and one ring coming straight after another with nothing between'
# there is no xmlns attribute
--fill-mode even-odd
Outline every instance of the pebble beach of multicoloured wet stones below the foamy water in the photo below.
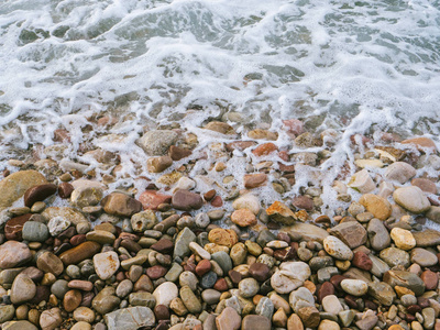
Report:
<svg viewBox="0 0 440 330"><path fill-rule="evenodd" d="M440 329L431 139L353 135L354 158L329 183L333 130L287 120L288 147L271 129L199 130L219 142L146 130L135 142L146 172L130 185L118 185L128 174L117 153L85 143L92 162L59 161L64 130L9 160L2 330Z"/></svg>

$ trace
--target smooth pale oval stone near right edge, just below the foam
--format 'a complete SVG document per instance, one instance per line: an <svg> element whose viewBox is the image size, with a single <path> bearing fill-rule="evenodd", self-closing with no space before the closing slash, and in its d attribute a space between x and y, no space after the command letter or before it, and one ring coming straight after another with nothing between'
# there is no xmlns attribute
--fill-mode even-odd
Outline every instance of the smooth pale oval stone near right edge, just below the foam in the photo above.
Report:
<svg viewBox="0 0 440 330"><path fill-rule="evenodd" d="M414 213L422 213L431 207L424 191L415 186L397 188L393 193L393 198L404 209Z"/></svg>

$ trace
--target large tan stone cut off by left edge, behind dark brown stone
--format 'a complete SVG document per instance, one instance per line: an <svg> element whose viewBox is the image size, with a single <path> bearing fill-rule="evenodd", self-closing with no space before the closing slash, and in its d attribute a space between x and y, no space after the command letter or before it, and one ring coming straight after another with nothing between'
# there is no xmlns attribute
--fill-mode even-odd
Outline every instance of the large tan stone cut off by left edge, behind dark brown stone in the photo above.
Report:
<svg viewBox="0 0 440 330"><path fill-rule="evenodd" d="M36 170L20 170L0 182L0 209L12 206L29 188L47 184L46 178Z"/></svg>

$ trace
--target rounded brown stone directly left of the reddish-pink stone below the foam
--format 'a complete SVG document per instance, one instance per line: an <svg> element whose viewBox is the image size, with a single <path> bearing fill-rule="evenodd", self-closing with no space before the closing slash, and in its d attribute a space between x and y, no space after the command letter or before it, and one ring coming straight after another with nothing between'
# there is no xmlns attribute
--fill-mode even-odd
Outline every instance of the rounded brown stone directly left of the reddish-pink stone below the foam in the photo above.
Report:
<svg viewBox="0 0 440 330"><path fill-rule="evenodd" d="M109 215L131 217L142 210L142 204L122 193L112 193L101 200L103 210Z"/></svg>

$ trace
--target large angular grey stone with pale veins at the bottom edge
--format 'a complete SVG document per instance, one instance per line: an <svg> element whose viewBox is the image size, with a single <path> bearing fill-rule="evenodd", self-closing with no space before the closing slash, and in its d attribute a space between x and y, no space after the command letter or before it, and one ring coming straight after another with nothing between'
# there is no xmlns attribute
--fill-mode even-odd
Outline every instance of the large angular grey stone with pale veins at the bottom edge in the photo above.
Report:
<svg viewBox="0 0 440 330"><path fill-rule="evenodd" d="M103 317L108 330L136 330L141 327L153 327L155 317L148 307L130 307L109 312Z"/></svg>

